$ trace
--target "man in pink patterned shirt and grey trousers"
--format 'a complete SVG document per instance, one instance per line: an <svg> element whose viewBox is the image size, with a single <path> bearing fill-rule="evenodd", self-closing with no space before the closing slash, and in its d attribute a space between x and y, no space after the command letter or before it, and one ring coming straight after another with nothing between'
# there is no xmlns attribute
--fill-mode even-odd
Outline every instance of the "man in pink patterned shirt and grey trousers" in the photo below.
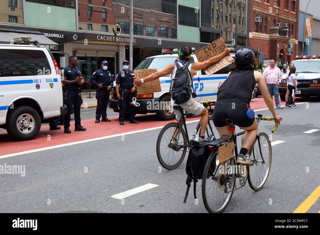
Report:
<svg viewBox="0 0 320 235"><path fill-rule="evenodd" d="M270 60L270 66L265 68L263 71L263 76L266 79L266 84L269 90L269 94L272 98L272 96L275 96L276 101L276 108L284 108L281 107L279 102L279 78L282 78L282 72L281 70L275 66L276 61L274 59Z"/></svg>

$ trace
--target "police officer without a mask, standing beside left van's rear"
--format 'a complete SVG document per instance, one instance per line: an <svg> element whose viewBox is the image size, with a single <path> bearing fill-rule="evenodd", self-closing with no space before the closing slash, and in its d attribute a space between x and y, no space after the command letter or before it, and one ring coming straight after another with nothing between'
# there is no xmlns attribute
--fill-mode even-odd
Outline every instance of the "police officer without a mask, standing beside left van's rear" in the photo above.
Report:
<svg viewBox="0 0 320 235"><path fill-rule="evenodd" d="M62 84L66 86L67 96L65 98L65 105L68 107L68 114L65 115L64 133L71 133L70 116L73 105L75 115L75 131L86 130L81 126L80 108L82 105L81 86L84 83L84 78L81 72L77 69L78 59L75 56L69 57L69 65L64 67L61 71Z"/></svg>

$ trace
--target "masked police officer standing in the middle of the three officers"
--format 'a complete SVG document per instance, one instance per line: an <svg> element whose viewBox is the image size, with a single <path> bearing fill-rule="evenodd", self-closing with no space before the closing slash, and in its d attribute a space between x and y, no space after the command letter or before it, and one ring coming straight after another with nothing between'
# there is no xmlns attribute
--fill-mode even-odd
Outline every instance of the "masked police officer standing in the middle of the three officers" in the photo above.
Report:
<svg viewBox="0 0 320 235"><path fill-rule="evenodd" d="M97 99L97 109L96 109L96 121L100 122L100 117L102 115L101 121L111 121L107 118L107 107L110 97L110 90L113 85L113 77L111 73L107 70L108 62L106 60L102 61L101 68L95 71L90 78L90 82L96 86L96 99Z"/></svg>

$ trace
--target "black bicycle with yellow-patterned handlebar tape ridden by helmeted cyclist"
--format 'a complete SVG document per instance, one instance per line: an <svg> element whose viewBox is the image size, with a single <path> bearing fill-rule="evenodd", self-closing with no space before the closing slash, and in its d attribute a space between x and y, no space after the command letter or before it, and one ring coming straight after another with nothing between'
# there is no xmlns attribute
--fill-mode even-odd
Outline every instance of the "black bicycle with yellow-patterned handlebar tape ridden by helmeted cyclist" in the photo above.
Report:
<svg viewBox="0 0 320 235"><path fill-rule="evenodd" d="M261 114L255 118L258 124L261 120L275 121L276 125L272 133L278 128L278 122L274 118L265 118ZM245 131L236 134L236 123L230 122L228 119L226 119L226 123L230 125L229 130L233 132L232 136L224 138L222 136L208 143L212 152L204 167L202 199L205 208L210 213L223 212L228 206L233 192L243 187L247 180L252 190L260 190L268 179L271 167L271 142L269 136L263 132L257 134L249 150L249 155L253 157L253 164L236 163L238 153L236 138L243 135ZM240 187L236 187L237 178L239 178Z"/></svg>

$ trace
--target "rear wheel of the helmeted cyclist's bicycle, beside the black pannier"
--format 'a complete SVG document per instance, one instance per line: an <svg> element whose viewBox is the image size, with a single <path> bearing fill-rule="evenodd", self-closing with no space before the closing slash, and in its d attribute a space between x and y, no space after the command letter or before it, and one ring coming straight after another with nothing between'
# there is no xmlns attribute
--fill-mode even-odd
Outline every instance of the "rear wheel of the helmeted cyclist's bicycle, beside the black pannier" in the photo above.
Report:
<svg viewBox="0 0 320 235"><path fill-rule="evenodd" d="M212 153L210 153L208 160L204 166L204 171L203 171L203 176L202 176L202 187L201 187L201 191L202 191L202 200L204 203L204 207L206 208L206 210L209 213L221 213L223 212L232 197L233 194L233 190L231 192L225 193L223 187L221 187L221 185L218 186L218 180L215 180L214 178L220 178L220 166L218 168L218 166L216 165L215 167L215 173L212 172L212 168L210 168L210 166L212 166L212 161L216 161L219 158L218 156L218 149L216 149L215 151L212 151ZM231 158L227 161L224 162L231 162L231 165L236 165L235 159ZM218 169L217 169L218 168ZM210 176L208 177L208 174L210 174ZM214 174L214 175L213 175ZM233 174L231 175L233 176ZM212 187L212 183L215 184ZM233 179L230 182L230 189L234 189L235 187L235 183L236 183L236 179ZM216 192L207 192L210 191L210 188L212 188L212 191L216 191ZM229 187L228 187L229 188ZM219 195L218 195L219 194ZM216 197L217 200L219 200L217 204L217 206L215 206L214 202L212 202L210 199ZM222 198L222 200L221 200Z"/></svg>

